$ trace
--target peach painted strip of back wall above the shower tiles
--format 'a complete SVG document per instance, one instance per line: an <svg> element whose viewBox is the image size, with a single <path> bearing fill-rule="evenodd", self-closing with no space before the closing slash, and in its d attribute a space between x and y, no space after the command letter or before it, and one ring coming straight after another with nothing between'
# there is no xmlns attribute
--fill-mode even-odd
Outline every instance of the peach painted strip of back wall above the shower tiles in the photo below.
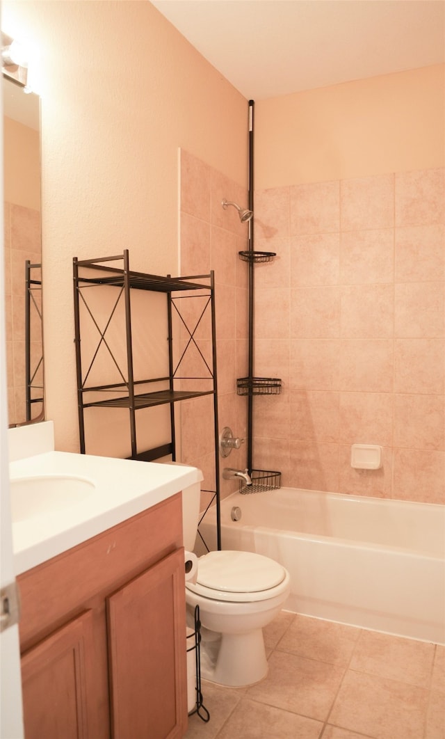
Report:
<svg viewBox="0 0 445 739"><path fill-rule="evenodd" d="M255 103L258 189L445 164L445 65Z"/></svg>

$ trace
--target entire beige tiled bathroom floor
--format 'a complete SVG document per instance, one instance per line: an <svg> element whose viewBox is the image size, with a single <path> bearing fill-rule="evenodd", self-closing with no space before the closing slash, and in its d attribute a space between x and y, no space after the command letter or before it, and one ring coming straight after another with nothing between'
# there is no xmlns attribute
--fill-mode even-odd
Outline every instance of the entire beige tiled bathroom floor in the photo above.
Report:
<svg viewBox="0 0 445 739"><path fill-rule="evenodd" d="M445 739L445 647L286 611L264 634L267 677L203 681L185 739Z"/></svg>

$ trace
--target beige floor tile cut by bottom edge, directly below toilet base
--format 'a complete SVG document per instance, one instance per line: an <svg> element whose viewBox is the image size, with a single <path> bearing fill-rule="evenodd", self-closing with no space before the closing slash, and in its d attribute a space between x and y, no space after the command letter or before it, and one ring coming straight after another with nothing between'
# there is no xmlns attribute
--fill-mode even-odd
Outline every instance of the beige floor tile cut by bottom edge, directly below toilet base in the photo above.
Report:
<svg viewBox="0 0 445 739"><path fill-rule="evenodd" d="M321 729L320 721L244 698L218 739L318 739Z"/></svg>

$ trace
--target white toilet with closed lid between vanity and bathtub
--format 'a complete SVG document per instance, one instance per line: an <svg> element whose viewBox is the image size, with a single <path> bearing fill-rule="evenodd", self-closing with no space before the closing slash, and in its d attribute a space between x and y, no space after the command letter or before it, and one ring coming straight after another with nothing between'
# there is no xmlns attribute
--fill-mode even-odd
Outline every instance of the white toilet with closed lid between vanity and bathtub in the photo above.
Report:
<svg viewBox="0 0 445 739"><path fill-rule="evenodd" d="M182 493L184 548L193 551L201 487ZM196 583L186 582L187 615L199 605L201 677L241 687L267 674L263 627L289 595L289 573L269 557L252 552L212 551L199 557ZM190 621L191 623L191 621Z"/></svg>

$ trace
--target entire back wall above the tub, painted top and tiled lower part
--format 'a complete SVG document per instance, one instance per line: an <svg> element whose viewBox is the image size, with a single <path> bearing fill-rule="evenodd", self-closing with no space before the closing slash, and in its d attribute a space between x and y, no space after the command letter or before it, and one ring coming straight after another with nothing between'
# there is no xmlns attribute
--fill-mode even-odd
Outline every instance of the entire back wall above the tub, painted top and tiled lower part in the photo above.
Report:
<svg viewBox="0 0 445 739"><path fill-rule="evenodd" d="M445 502L444 67L256 107L255 466ZM383 447L351 469L352 443Z"/></svg>

